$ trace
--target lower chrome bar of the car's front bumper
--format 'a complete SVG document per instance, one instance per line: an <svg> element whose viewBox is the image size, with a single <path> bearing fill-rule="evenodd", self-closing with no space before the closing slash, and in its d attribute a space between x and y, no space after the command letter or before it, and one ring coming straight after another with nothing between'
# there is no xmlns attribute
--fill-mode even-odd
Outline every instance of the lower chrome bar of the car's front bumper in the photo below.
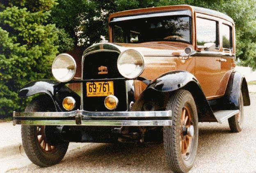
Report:
<svg viewBox="0 0 256 173"><path fill-rule="evenodd" d="M13 124L23 125L69 125L77 126L74 120L13 120ZM82 120L82 126L171 126L171 120Z"/></svg>

